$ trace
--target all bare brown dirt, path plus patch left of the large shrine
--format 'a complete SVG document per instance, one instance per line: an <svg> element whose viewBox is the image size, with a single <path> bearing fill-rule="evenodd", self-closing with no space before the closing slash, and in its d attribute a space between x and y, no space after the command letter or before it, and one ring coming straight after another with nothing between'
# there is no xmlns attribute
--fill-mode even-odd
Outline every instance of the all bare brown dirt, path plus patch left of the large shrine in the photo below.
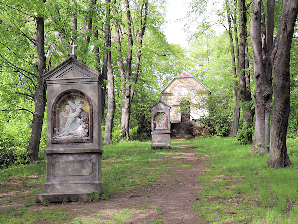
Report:
<svg viewBox="0 0 298 224"><path fill-rule="evenodd" d="M194 148L180 147L179 151L183 152L183 157L179 159L182 166L177 163L177 166L174 164L165 170L160 174L161 180L156 185L116 194L109 200L51 203L48 206L33 204L34 206L28 209L40 214L52 209L60 211L62 208L65 216L75 219L72 223L205 223L205 220L198 216L198 212L193 210L193 203L197 202L195 198L200 191L198 176L204 172L208 162L198 158ZM3 185L0 192L0 211L11 204L24 206L25 199L34 194L32 189L38 191L41 187L40 184L22 186L21 180L11 180ZM25 181L27 182L27 179ZM42 222L47 223L46 220Z"/></svg>

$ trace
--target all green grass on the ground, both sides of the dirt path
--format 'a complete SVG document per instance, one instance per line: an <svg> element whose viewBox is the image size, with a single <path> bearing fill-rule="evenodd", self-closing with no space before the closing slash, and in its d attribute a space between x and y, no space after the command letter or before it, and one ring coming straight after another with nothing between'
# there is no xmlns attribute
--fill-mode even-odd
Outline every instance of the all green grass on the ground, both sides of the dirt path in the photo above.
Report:
<svg viewBox="0 0 298 224"><path fill-rule="evenodd" d="M251 145L243 146L230 138L198 138L193 141L172 141L171 150L152 150L151 142L121 142L104 146L102 155L103 198L123 193L148 184L160 184L161 174L172 166L187 168L179 159L179 145L196 147L198 158L210 162L198 177L201 187L193 200L193 209L210 223L298 223L298 140L287 141L288 154L293 164L290 168L271 169L266 161L269 155L251 155ZM30 176L39 179L31 179ZM18 184L8 188L7 180L18 179ZM45 162L15 166L0 170L0 192L23 188L18 197L28 199L23 205L13 205L13 197L7 198L7 209L0 211L0 223L125 223L131 215L123 209L109 216L97 214L97 218L76 218L63 209L49 205L33 205L34 195L42 190L45 182ZM99 195L94 192L90 201ZM12 203L11 203L12 202ZM36 208L34 208L36 207ZM142 204L139 209L148 209ZM151 207L160 211L158 206ZM95 219L95 220L94 220ZM150 220L161 223L162 219Z"/></svg>

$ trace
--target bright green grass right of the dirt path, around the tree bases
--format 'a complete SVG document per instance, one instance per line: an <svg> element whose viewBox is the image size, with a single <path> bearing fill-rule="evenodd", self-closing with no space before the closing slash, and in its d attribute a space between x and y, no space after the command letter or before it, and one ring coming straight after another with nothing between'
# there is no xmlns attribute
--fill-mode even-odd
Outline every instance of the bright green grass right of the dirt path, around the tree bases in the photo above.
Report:
<svg viewBox="0 0 298 224"><path fill-rule="evenodd" d="M271 169L269 155L251 155L251 145L230 138L202 138L192 142L207 155L211 167L198 179L194 209L212 223L298 223L298 141L287 147L293 164Z"/></svg>

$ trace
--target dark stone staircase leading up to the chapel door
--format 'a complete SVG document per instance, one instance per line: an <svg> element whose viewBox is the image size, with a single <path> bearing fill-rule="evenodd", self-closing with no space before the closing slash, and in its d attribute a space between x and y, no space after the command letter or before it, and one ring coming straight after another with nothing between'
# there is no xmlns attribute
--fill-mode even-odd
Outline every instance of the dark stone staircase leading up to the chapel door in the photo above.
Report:
<svg viewBox="0 0 298 224"><path fill-rule="evenodd" d="M191 122L172 123L171 139L191 139L194 137Z"/></svg>

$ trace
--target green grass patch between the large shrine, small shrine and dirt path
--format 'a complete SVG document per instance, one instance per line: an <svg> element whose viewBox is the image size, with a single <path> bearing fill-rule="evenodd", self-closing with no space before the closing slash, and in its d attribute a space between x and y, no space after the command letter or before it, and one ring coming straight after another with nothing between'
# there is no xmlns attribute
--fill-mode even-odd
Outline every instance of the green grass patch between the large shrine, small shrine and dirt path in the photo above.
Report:
<svg viewBox="0 0 298 224"><path fill-rule="evenodd" d="M182 166L177 152L179 142L172 149L151 149L151 141L119 142L104 146L102 155L103 197L114 193L159 184L161 174L172 166ZM180 142L181 144L181 142ZM175 157L175 158L172 158Z"/></svg>

